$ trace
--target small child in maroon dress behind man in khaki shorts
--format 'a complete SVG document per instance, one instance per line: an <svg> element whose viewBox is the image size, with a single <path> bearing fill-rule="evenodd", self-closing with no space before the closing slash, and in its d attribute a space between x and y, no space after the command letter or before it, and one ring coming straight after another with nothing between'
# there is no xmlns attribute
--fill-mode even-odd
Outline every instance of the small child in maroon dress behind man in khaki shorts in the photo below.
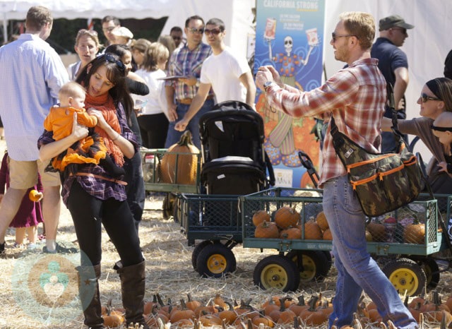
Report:
<svg viewBox="0 0 452 329"><path fill-rule="evenodd" d="M3 199L6 189L9 187L9 168L8 168L8 152L5 152L0 167L0 201ZM13 221L9 225L16 228L16 241L14 247L23 248L25 246L25 234L28 237L28 249L36 248L37 242L37 225L42 223L41 203L30 200L28 194L32 190L37 190L42 193L41 179L38 175L37 185L28 189L25 196L23 196L22 203L20 203L19 210ZM42 195L40 196L42 198Z"/></svg>

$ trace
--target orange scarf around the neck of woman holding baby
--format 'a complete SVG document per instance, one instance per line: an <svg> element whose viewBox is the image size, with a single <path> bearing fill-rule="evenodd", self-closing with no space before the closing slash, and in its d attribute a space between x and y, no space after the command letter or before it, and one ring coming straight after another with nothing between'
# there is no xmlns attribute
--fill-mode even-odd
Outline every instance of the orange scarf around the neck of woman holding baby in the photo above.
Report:
<svg viewBox="0 0 452 329"><path fill-rule="evenodd" d="M90 94L88 94L87 92L85 99L85 108L89 109L90 107L93 107L102 112L102 115L104 116L105 121L107 121L107 124L109 124L109 126L111 126L117 133L121 133L121 126L119 126L116 107L114 106L112 96L110 96L108 92L105 92L105 94L97 97L90 96ZM112 155L114 162L122 167L124 164L124 154L121 152L121 150L117 147L117 145L114 145L112 139L109 138L107 133L105 133L102 128L96 126L94 128L94 131L98 133L104 140L105 146L108 149L108 154Z"/></svg>

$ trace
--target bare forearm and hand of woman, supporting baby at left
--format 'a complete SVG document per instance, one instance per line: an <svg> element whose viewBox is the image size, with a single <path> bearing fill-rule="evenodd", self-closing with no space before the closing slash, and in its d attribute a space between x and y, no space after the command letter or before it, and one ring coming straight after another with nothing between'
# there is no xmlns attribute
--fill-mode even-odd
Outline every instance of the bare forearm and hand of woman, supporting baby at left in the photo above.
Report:
<svg viewBox="0 0 452 329"><path fill-rule="evenodd" d="M64 150L67 150L73 143L76 143L77 140L81 140L86 136L88 136L88 128L78 124L77 114L74 112L71 135L51 143L41 145L40 160L44 162L52 159L52 157L56 157Z"/></svg>

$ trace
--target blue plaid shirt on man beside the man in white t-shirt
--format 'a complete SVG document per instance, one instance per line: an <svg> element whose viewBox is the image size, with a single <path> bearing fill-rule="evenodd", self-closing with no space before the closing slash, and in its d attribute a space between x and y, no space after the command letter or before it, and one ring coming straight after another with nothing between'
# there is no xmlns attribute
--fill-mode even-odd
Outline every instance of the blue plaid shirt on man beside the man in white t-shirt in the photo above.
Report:
<svg viewBox="0 0 452 329"><path fill-rule="evenodd" d="M193 50L190 50L186 45L182 48L177 48L169 59L167 76L194 76L199 80L201 77L201 66L203 66L203 62L210 54L212 54L212 48L202 42ZM174 88L174 95L177 100L193 98L198 92L196 85L189 86L178 80L167 80L165 85ZM213 95L212 88L210 88L209 96Z"/></svg>

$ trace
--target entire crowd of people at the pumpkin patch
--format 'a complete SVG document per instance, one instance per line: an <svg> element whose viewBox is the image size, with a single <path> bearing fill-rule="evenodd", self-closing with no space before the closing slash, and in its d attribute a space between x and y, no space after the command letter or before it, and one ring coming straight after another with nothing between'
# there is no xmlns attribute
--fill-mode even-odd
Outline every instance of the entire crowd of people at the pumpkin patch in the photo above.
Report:
<svg viewBox="0 0 452 329"><path fill-rule="evenodd" d="M57 244L62 201L86 256L76 270L79 282L90 285L79 285L79 293L94 292L93 298L81 298L89 328L104 328L99 290L102 225L120 258L114 268L121 281L126 323L148 328L143 318L145 260L138 237L145 201L139 148L168 148L186 130L200 148L201 116L226 100L254 107L256 86L274 109L295 117L333 116L340 131L378 152L382 139L385 150L396 144L393 136L381 134L390 133L393 125L393 114L386 108L386 83L393 83L399 130L420 136L437 164L429 173L437 173L446 191L441 193L451 193L452 184L442 183L452 172L452 80L427 81L417 100L421 117L405 119L408 61L398 47L414 26L400 16L379 21L380 35L374 43L375 22L369 13L341 14L330 44L335 59L347 66L311 91L285 84L273 66L258 68L254 80L246 59L225 45L227 27L219 18L205 23L200 16L191 16L183 29L174 27L169 36L151 42L134 40L118 18L106 16L105 49L97 32L79 30L74 44L79 61L68 68L44 41L52 25L49 9L33 6L26 32L0 48L0 116L8 148L1 166L6 178L0 184L8 189L0 195L0 253L7 251L4 238L11 223L30 227L31 247L42 220L43 252L64 253ZM452 61L449 57L446 64ZM446 67L444 73L450 71ZM364 290L384 321L393 321L397 328L417 328L367 252L364 215L335 154L329 127L319 183L338 269L330 325L352 323ZM42 201L31 202L29 189L42 191ZM23 208L25 203L28 208ZM31 217L20 222L19 214ZM23 244L24 232L16 243Z"/></svg>

